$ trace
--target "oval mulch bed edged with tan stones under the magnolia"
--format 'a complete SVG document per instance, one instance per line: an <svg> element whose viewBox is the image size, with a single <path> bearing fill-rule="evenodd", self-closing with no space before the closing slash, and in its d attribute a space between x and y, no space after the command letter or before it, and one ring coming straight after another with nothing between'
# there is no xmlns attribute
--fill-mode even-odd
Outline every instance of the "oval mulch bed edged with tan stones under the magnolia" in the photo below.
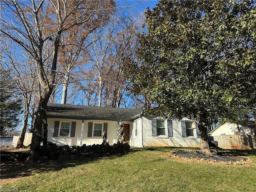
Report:
<svg viewBox="0 0 256 192"><path fill-rule="evenodd" d="M207 163L207 164L226 164L226 165L242 165L250 164L252 160L245 156L236 156L225 152L213 152L213 156L207 156L199 151L176 150L164 154L166 158L175 160Z"/></svg>

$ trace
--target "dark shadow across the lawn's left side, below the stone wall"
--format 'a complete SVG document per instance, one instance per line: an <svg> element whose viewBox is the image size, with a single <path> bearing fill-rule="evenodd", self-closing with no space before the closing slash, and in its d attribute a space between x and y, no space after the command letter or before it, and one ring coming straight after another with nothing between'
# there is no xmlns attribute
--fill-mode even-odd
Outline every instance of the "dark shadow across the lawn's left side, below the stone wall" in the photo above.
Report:
<svg viewBox="0 0 256 192"><path fill-rule="evenodd" d="M31 176L38 173L49 172L49 171L58 171L63 168L75 167L82 164L93 163L101 159L116 159L116 157L124 156L128 153L136 152L136 150L130 150L125 154L116 154L112 156L104 156L104 157L82 157L76 160L66 160L62 162L57 162L57 160L45 160L40 159L37 162L32 164L25 163L26 157L22 160L8 160L3 161L3 153L1 152L1 164L0 164L0 178L1 179L9 179L9 178L20 178L25 176ZM12 152L15 153L15 152Z"/></svg>

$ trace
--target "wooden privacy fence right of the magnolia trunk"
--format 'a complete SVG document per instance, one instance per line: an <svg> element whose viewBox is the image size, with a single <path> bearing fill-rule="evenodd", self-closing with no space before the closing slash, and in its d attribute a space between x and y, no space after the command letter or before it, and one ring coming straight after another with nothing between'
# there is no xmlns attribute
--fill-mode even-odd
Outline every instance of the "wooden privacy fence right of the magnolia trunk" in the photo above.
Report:
<svg viewBox="0 0 256 192"><path fill-rule="evenodd" d="M239 135L213 136L218 141L218 147L222 149L256 149L256 138L254 135L242 135L242 142L239 142Z"/></svg>

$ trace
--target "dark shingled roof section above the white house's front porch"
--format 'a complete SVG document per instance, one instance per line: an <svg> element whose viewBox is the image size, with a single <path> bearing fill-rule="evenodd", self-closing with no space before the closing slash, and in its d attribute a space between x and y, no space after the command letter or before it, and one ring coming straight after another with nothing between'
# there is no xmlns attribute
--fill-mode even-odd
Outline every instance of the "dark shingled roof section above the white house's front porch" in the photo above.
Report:
<svg viewBox="0 0 256 192"><path fill-rule="evenodd" d="M47 118L72 118L72 119L121 119L133 120L138 118L142 110L126 108L96 107L84 105L47 104Z"/></svg>

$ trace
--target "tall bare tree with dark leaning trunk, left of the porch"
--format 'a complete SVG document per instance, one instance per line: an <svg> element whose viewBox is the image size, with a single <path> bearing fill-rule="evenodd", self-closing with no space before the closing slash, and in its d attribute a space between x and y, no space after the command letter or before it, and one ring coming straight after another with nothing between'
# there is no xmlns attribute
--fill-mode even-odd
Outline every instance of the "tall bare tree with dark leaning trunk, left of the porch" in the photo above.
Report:
<svg viewBox="0 0 256 192"><path fill-rule="evenodd" d="M110 14L115 6L114 1L18 1L4 0L1 17L1 36L10 38L36 63L40 84L40 100L36 110L30 156L36 160L39 156L42 141L42 122L46 114L47 102L52 94L56 71L58 70L58 53L62 34L75 26L85 25L91 30L92 24ZM45 42L49 40L52 54L51 62L46 63L44 55ZM47 73L47 72L50 73Z"/></svg>

